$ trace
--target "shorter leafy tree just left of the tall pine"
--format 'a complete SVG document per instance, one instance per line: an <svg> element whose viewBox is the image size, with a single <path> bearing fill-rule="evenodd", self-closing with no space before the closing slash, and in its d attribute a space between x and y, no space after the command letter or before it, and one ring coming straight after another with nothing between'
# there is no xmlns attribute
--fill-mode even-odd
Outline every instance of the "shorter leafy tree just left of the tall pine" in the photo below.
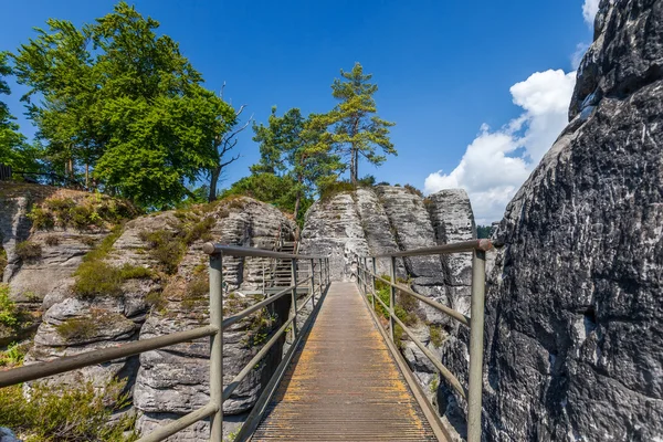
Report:
<svg viewBox="0 0 663 442"><path fill-rule="evenodd" d="M267 126L253 125L254 141L260 144L260 162L251 167L254 173L277 173L294 180L295 219L299 217L301 203L311 198L316 186L335 180L343 164L329 152L329 145L320 143L324 126L318 115L305 118L298 108L283 116L272 108Z"/></svg>

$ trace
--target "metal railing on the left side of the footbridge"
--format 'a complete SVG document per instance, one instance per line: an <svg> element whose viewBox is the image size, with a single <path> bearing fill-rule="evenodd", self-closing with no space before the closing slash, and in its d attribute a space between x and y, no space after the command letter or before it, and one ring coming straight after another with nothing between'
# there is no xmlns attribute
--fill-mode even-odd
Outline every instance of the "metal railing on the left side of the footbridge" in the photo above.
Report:
<svg viewBox="0 0 663 442"><path fill-rule="evenodd" d="M75 356L65 356L46 362L38 362L7 371L0 371L0 388L21 382L36 380L49 376L83 367L109 362L115 359L138 355L145 351L157 350L175 344L193 339L210 337L210 401L204 407L182 415L149 434L139 439L139 442L162 441L164 439L183 430L197 421L210 418L210 441L220 442L223 435L223 402L230 398L242 380L251 372L267 351L278 343L278 339L292 328L293 337L297 336L297 316L306 303L311 301L312 312L316 307L316 293L322 296L329 285L329 260L323 256L305 256L278 253L253 248L239 248L206 243L202 251L210 255L210 323L207 326L185 332L177 332L155 338L118 345L117 347L86 351ZM244 257L270 257L292 261L292 284L267 298L253 304L245 309L223 318L223 255ZM311 275L302 281L297 280L297 264L306 260L311 265ZM317 272L316 272L317 269ZM306 285L305 285L306 284ZM297 306L297 288L307 287L308 296ZM275 301L290 295L291 312L287 320L276 330L244 368L223 388L223 330L231 325L246 318L249 315L266 307ZM319 298L318 298L319 299Z"/></svg>

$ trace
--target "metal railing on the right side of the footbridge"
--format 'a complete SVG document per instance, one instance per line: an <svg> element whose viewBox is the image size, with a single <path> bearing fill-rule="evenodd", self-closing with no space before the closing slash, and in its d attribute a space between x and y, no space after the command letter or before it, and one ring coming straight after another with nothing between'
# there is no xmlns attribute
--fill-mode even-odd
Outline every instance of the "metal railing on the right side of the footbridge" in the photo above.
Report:
<svg viewBox="0 0 663 442"><path fill-rule="evenodd" d="M415 249L391 254L376 256L357 257L357 285L365 295L371 294L371 303L375 311L376 299L382 305L389 315L389 333L392 341L396 341L394 323L399 325L414 345L431 360L444 379L453 389L467 401L467 442L481 441L481 413L482 413L482 390L483 390L483 332L484 332L484 301L485 301L485 276L486 276L486 251L492 249L488 240L465 241L453 244L439 245L433 248ZM411 288L398 284L396 278L396 259L406 256L424 256L436 254L472 252L472 299L470 305L470 317L456 312L443 304L434 302L422 296ZM381 277L376 271L376 259L390 259L390 280ZM368 267L368 260L371 260L371 269ZM370 284L369 284L370 280ZM376 281L381 281L390 286L389 305L387 305L377 294ZM400 320L394 314L396 292L400 291L410 295L422 303L446 314L464 326L470 327L470 372L467 389L459 381L438 358L417 338L417 336Z"/></svg>

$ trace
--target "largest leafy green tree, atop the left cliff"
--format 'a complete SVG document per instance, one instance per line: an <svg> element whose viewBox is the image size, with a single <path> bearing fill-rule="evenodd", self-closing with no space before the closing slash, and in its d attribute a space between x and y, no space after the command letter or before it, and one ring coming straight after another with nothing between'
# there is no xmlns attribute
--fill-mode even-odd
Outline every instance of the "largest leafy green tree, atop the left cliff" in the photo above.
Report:
<svg viewBox="0 0 663 442"><path fill-rule="evenodd" d="M86 181L145 207L181 200L219 161L214 138L232 126L232 107L156 34L157 21L124 1L81 29L48 24L14 61L53 162L72 175L84 167Z"/></svg>

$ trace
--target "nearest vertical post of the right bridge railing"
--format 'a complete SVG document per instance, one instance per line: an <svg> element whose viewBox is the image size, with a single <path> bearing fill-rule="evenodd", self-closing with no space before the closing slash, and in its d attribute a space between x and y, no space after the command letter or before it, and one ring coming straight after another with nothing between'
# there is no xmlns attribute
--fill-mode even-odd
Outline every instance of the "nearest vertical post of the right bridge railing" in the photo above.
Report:
<svg viewBox="0 0 663 442"><path fill-rule="evenodd" d="M486 252L475 250L472 254L472 301L470 304L467 442L481 442L485 283Z"/></svg>

